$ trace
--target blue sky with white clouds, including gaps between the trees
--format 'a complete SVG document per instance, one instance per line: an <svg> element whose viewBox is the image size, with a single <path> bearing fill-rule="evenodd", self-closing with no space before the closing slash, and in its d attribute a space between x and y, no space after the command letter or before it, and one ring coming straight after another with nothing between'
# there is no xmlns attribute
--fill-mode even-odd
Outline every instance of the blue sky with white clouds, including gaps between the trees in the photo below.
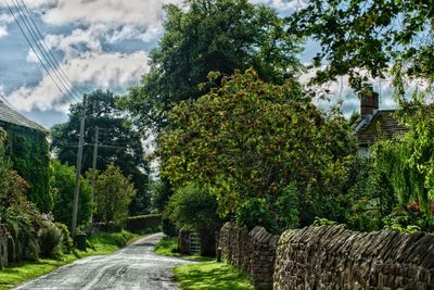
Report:
<svg viewBox="0 0 434 290"><path fill-rule="evenodd" d="M164 34L164 3L180 4L181 0L0 0L0 97L29 118L51 127L66 121L71 102L80 92L95 88L124 92L137 85L149 70L148 53ZM301 0L252 0L276 8L282 16L290 15ZM12 14L8 8L12 9ZM39 43L49 49L58 63L46 63L44 72L31 51L13 15L27 33L34 28ZM31 17L30 17L31 15ZM27 21L27 22L25 22ZM31 26L33 27L33 26ZM318 48L318 46L310 46ZM314 50L301 58L309 62ZM348 90L346 79L331 85L332 93L344 100L350 113L358 101ZM76 94L65 97L61 90L73 84ZM387 93L390 84L376 84ZM327 106L327 104L323 104ZM383 101L383 108L393 105Z"/></svg>

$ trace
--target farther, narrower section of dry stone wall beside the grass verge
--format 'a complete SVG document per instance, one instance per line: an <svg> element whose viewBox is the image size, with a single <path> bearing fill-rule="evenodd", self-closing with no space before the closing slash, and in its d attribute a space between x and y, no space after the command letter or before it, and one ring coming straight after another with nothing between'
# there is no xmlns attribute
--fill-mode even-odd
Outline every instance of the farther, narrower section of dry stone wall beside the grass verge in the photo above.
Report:
<svg viewBox="0 0 434 290"><path fill-rule="evenodd" d="M232 265L246 273L258 289L272 288L276 247L279 236L263 227L250 232L226 223L220 230L221 255Z"/></svg>

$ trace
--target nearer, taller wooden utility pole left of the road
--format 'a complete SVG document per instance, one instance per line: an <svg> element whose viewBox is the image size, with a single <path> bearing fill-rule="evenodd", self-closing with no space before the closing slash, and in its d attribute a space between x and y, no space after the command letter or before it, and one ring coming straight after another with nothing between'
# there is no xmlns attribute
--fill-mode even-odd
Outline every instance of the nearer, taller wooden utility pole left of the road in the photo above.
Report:
<svg viewBox="0 0 434 290"><path fill-rule="evenodd" d="M78 196L79 196L79 192L80 192L80 174L81 174L82 146L85 143L85 119L86 119L86 94L82 97L80 136L79 136L79 140L78 140L77 166L76 166L76 175L75 175L75 189L74 189L74 203L73 203L73 225L72 225L73 238L75 238L76 228L77 228L77 212L78 212Z"/></svg>

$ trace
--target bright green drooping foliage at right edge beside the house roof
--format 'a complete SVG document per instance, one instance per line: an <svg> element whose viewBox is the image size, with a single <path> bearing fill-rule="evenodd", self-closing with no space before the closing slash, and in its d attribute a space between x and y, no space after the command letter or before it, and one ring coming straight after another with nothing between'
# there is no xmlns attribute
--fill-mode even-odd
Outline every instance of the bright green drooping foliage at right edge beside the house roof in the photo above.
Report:
<svg viewBox="0 0 434 290"><path fill-rule="evenodd" d="M375 147L378 165L391 182L404 209L413 206L422 216L423 230L433 223L434 200L434 114L424 94L401 102L398 112L408 133Z"/></svg>

